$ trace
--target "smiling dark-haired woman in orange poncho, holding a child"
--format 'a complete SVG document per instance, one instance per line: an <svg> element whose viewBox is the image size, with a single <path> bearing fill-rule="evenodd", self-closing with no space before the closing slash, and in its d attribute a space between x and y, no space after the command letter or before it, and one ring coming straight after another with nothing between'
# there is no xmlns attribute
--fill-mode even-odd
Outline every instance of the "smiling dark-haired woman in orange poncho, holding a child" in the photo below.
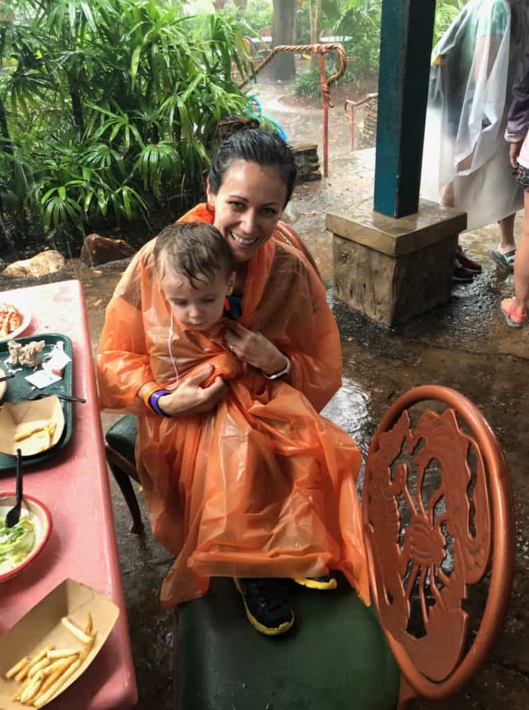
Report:
<svg viewBox="0 0 529 710"><path fill-rule="evenodd" d="M338 329L311 265L272 238L296 165L286 143L258 125L228 124L207 203L180 220L216 226L235 261L222 352L195 339L213 366L182 378L153 240L108 305L98 372L101 404L138 414L135 455L152 529L177 558L162 606L206 594L211 576L238 578L248 618L274 635L294 620L274 578L331 589L328 572L340 569L364 601L369 585L360 454L316 414L340 386ZM147 409L153 393L165 416Z"/></svg>

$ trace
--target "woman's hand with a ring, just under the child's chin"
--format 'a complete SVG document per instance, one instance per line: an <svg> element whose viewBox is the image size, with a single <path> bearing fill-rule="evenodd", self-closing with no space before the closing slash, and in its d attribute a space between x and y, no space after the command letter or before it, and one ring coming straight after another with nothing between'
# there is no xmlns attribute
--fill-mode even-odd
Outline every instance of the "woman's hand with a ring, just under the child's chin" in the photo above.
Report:
<svg viewBox="0 0 529 710"><path fill-rule="evenodd" d="M254 333L233 320L226 320L225 324L225 346L235 357L268 375L273 375L286 366L286 355L264 335Z"/></svg>

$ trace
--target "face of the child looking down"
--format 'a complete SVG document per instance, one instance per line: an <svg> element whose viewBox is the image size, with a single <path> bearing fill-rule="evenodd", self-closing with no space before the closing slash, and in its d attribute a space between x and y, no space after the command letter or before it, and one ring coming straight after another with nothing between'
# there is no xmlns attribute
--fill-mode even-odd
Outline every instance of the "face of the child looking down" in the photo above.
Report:
<svg viewBox="0 0 529 710"><path fill-rule="evenodd" d="M184 275L166 268L160 283L174 317L194 330L206 330L221 319L224 299L235 285L235 273L227 276L217 271L213 281L203 276L193 288Z"/></svg>

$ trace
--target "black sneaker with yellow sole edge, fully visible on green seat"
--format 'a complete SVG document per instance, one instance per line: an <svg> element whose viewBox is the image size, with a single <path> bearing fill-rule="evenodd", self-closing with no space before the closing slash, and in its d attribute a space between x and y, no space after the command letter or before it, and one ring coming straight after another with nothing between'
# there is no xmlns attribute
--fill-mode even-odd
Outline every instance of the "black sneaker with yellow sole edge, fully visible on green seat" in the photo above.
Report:
<svg viewBox="0 0 529 710"><path fill-rule="evenodd" d="M243 597L248 621L260 633L277 636L294 623L294 613L284 599L276 579L233 577Z"/></svg>

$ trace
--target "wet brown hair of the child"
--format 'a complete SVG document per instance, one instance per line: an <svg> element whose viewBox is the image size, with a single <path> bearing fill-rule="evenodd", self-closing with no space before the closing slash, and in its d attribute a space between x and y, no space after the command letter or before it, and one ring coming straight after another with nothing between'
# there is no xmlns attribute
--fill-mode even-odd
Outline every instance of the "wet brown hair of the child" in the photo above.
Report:
<svg viewBox="0 0 529 710"><path fill-rule="evenodd" d="M168 266L185 276L192 288L213 281L218 271L233 271L233 256L221 232L207 222L184 222L162 229L154 248L156 268L162 274Z"/></svg>

